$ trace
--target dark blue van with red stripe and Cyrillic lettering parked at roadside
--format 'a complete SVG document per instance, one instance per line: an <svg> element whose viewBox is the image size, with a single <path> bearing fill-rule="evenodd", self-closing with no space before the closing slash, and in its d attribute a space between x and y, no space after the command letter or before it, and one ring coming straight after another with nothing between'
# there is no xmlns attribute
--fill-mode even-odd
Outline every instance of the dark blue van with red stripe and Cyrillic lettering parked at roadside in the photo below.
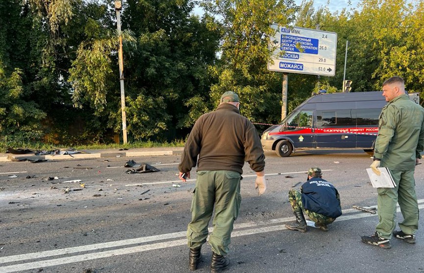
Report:
<svg viewBox="0 0 424 273"><path fill-rule="evenodd" d="M288 157L298 150L363 149L372 153L378 116L386 105L381 91L319 94L264 131L264 150Z"/></svg>

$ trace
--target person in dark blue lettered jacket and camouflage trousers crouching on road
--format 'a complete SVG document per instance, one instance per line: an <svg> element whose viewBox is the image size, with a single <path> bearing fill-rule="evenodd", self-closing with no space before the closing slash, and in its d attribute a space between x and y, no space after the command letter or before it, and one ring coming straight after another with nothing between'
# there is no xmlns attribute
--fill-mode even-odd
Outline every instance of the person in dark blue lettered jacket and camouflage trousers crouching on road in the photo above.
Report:
<svg viewBox="0 0 424 273"><path fill-rule="evenodd" d="M328 231L337 217L342 215L340 196L337 189L322 178L320 168L314 167L308 171L308 181L298 190L289 191L289 201L296 216L296 221L286 224L286 228L306 232L305 214L315 222L315 227Z"/></svg>

